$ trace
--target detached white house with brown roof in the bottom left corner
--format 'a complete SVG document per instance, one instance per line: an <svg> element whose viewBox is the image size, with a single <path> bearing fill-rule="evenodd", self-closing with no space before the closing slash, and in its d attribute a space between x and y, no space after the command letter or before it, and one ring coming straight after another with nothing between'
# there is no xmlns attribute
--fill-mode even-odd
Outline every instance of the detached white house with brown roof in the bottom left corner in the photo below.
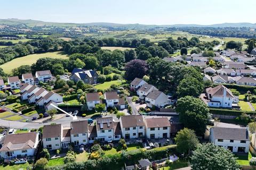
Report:
<svg viewBox="0 0 256 170"><path fill-rule="evenodd" d="M0 149L0 156L4 159L34 157L39 143L39 133L6 134Z"/></svg>

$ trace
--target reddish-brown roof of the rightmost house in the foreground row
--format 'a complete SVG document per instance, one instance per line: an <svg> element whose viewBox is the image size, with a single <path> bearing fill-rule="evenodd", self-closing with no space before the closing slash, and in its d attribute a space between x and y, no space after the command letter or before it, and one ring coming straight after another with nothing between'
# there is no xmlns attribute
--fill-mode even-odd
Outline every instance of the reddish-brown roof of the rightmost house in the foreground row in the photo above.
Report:
<svg viewBox="0 0 256 170"><path fill-rule="evenodd" d="M145 118L147 128L158 128L171 126L167 117Z"/></svg>

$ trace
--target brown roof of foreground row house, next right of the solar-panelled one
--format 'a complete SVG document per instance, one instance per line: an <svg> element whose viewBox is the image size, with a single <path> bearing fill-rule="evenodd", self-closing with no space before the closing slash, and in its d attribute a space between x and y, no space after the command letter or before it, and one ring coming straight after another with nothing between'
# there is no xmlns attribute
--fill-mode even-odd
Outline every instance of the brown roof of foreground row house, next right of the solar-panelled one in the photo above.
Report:
<svg viewBox="0 0 256 170"><path fill-rule="evenodd" d="M123 128L132 128L135 126L145 126L143 117L141 115L122 116L121 122L122 122Z"/></svg>

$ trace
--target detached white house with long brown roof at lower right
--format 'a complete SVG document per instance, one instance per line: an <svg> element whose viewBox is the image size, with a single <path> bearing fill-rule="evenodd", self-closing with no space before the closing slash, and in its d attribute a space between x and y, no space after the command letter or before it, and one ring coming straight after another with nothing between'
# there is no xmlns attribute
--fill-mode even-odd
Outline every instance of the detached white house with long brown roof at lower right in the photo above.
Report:
<svg viewBox="0 0 256 170"><path fill-rule="evenodd" d="M246 128L213 127L210 129L210 141L231 152L249 152L250 140Z"/></svg>

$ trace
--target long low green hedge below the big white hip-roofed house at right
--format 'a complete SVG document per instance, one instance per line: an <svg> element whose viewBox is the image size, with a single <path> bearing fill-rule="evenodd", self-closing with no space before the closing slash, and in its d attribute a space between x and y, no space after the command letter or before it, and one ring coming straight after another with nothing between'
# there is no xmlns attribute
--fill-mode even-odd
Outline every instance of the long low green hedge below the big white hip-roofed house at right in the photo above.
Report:
<svg viewBox="0 0 256 170"><path fill-rule="evenodd" d="M228 116L240 116L242 113L246 113L247 115L254 115L253 111L238 111L232 109L221 109L221 108L209 108L211 114L215 115L228 115Z"/></svg>

